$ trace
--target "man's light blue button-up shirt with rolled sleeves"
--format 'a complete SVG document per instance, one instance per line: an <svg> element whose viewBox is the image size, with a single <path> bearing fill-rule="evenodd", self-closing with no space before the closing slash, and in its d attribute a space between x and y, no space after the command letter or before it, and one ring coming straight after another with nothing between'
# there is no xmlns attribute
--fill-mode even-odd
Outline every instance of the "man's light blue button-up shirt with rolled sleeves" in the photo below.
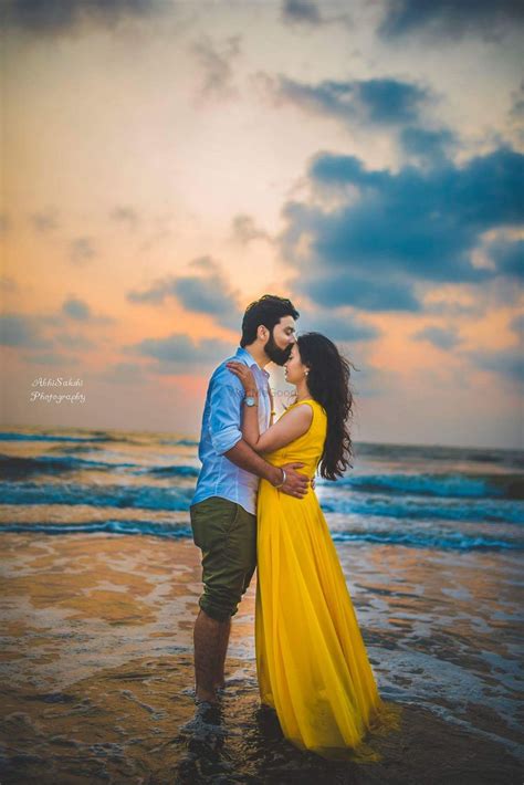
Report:
<svg viewBox="0 0 524 785"><path fill-rule="evenodd" d="M226 367L230 359L245 363L253 371L259 390L260 432L268 430L270 425L270 375L259 367L248 349L239 347L234 357L219 365L209 381L198 450L202 468L191 504L210 496L221 496L255 514L259 478L237 467L223 454L242 438L241 418L245 397L242 383Z"/></svg>

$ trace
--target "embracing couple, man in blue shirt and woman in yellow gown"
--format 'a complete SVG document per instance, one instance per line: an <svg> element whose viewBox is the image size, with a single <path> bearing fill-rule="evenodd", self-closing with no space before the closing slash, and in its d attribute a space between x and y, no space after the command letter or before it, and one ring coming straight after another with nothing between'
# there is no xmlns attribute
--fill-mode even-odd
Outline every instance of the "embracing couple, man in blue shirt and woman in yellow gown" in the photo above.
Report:
<svg viewBox="0 0 524 785"><path fill-rule="evenodd" d="M202 552L195 625L197 702L224 685L231 617L258 567L260 697L301 750L340 757L357 746L380 698L338 556L314 490L349 465L349 365L318 333L296 337L298 312L264 295L242 321L234 357L209 383L190 507ZM294 402L274 422L269 363Z"/></svg>

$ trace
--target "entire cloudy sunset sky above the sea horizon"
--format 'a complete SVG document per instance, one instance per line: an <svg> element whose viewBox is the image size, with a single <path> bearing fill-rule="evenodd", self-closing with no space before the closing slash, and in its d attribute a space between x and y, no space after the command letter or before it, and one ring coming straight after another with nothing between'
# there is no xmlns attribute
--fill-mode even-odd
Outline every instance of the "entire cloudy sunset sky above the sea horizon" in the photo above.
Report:
<svg viewBox="0 0 524 785"><path fill-rule="evenodd" d="M524 447L521 2L4 9L4 426L198 436L271 293L356 441Z"/></svg>

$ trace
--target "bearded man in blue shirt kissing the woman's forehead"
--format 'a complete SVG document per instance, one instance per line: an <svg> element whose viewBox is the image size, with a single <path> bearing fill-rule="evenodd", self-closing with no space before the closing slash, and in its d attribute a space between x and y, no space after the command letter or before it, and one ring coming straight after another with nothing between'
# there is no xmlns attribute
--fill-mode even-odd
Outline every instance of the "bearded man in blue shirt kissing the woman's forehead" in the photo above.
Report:
<svg viewBox="0 0 524 785"><path fill-rule="evenodd" d="M211 376L202 418L199 458L202 468L190 507L195 544L202 552L200 611L195 625L197 702L214 703L223 687L231 617L256 566L256 491L264 478L283 493L302 499L308 479L303 463L273 467L242 439L244 406L259 407L261 433L271 422L270 363L284 365L295 342L298 312L289 300L265 294L248 306L234 356L249 365L259 389L258 404L247 397L226 359Z"/></svg>

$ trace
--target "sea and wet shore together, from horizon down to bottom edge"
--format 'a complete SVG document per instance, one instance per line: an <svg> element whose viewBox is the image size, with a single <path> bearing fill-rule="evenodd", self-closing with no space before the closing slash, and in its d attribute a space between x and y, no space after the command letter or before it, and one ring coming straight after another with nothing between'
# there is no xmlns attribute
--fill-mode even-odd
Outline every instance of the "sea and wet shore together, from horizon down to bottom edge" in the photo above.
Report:
<svg viewBox="0 0 524 785"><path fill-rule="evenodd" d="M524 454L355 446L316 493L398 732L326 768L259 712L253 579L232 625L217 745L192 716L201 592L187 436L0 433L6 783L520 783Z"/></svg>

